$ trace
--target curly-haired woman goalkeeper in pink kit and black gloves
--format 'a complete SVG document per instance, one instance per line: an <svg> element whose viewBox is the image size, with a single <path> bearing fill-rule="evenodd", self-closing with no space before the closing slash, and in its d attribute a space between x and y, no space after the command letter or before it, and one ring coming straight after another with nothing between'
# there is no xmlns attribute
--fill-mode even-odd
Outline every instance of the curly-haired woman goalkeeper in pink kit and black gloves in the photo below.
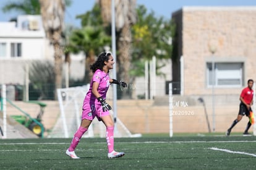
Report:
<svg viewBox="0 0 256 170"><path fill-rule="evenodd" d="M115 83L122 87L127 84L122 80L109 79L109 70L113 69L114 58L111 53L101 53L94 64L90 66L93 72L93 78L90 82L90 89L83 100L82 121L79 129L74 134L70 147L66 150L66 155L73 159L79 159L75 155L75 148L79 144L80 138L92 123L95 116L98 121L106 125L106 142L108 145L108 158L119 158L124 156L124 152L114 151L114 122L109 114L111 106L106 103L106 93L109 85Z"/></svg>

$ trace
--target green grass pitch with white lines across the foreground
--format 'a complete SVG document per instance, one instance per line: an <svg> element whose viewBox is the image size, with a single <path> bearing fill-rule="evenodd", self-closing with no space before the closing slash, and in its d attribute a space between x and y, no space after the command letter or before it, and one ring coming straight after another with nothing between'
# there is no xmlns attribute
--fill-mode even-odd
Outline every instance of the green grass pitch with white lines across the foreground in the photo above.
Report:
<svg viewBox="0 0 256 170"><path fill-rule="evenodd" d="M2 139L1 169L256 169L256 137L115 138L122 158L108 159L105 138L82 138L71 159L71 138Z"/></svg>

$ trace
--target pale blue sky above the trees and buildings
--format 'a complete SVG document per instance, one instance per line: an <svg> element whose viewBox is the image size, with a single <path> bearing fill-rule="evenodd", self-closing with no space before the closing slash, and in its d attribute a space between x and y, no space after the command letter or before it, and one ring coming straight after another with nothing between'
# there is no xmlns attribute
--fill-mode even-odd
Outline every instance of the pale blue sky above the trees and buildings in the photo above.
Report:
<svg viewBox="0 0 256 170"><path fill-rule="evenodd" d="M7 1L10 0L1 0L0 7ZM80 27L80 19L75 16L92 10L94 3L95 0L72 0L72 5L66 9L65 22ZM137 4L144 5L148 12L154 11L156 17L171 19L171 14L184 6L256 6L256 0L137 0ZM7 22L17 15L15 11L4 14L0 10L0 22Z"/></svg>

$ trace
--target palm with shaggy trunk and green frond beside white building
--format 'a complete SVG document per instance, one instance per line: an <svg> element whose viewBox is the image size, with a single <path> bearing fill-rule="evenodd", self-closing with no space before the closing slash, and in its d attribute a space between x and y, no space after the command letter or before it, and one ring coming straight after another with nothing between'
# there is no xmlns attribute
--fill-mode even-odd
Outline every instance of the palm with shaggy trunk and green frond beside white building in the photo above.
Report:
<svg viewBox="0 0 256 170"><path fill-rule="evenodd" d="M3 12L16 10L22 14L42 15L46 37L54 46L54 74L55 87L61 88L62 82L62 53L61 40L63 35L65 6L70 6L71 0L22 0L19 2L7 2Z"/></svg>

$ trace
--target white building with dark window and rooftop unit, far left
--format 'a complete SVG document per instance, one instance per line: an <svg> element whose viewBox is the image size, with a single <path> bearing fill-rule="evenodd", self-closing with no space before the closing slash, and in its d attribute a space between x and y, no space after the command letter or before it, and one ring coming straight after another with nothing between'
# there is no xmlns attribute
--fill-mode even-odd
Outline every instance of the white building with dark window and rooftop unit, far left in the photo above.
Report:
<svg viewBox="0 0 256 170"><path fill-rule="evenodd" d="M20 15L17 22L0 22L0 84L25 85L26 67L33 61L54 62L53 56L54 49L45 36L40 15ZM70 54L70 57L70 79L82 79L85 56ZM65 77L65 67L63 69Z"/></svg>

